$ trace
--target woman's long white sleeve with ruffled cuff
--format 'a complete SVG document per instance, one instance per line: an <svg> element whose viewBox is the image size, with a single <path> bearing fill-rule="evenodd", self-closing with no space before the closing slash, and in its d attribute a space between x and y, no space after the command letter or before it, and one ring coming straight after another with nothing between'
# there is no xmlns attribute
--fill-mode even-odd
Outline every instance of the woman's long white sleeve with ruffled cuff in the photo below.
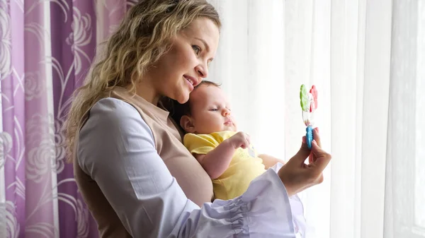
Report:
<svg viewBox="0 0 425 238"><path fill-rule="evenodd" d="M275 170L256 178L242 196L199 208L159 157L140 114L121 100L94 105L77 153L132 237L295 237L293 198Z"/></svg>

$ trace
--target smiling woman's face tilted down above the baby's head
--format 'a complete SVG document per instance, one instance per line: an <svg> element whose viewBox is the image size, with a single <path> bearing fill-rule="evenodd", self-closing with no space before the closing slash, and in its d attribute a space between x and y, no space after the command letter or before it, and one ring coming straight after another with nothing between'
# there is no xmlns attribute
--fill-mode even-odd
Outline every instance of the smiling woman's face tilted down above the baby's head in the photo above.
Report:
<svg viewBox="0 0 425 238"><path fill-rule="evenodd" d="M208 76L208 65L215 56L219 30L212 20L198 18L171 40L170 51L148 72L154 98L170 97L188 101L193 88Z"/></svg>

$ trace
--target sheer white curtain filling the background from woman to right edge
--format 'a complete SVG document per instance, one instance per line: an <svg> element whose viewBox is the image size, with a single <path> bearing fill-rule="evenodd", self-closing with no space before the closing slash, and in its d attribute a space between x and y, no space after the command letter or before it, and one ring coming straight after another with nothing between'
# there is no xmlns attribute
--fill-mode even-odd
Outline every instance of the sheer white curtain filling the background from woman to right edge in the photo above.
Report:
<svg viewBox="0 0 425 238"><path fill-rule="evenodd" d="M210 0L223 21L209 79L256 148L288 160L299 88L334 157L301 194L307 237L425 237L425 1Z"/></svg>

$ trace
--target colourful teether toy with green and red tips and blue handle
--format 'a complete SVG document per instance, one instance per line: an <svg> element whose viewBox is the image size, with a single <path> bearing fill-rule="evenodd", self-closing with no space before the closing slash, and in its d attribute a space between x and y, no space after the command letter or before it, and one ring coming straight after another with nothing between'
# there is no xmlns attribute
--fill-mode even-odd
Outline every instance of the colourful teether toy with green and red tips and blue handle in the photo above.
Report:
<svg viewBox="0 0 425 238"><path fill-rule="evenodd" d="M310 93L307 93L307 88L304 84L300 88L300 101L302 109L302 120L304 121L307 137L308 148L312 148L313 141L313 126L314 126L314 111L317 109L317 89L316 86L312 85Z"/></svg>

